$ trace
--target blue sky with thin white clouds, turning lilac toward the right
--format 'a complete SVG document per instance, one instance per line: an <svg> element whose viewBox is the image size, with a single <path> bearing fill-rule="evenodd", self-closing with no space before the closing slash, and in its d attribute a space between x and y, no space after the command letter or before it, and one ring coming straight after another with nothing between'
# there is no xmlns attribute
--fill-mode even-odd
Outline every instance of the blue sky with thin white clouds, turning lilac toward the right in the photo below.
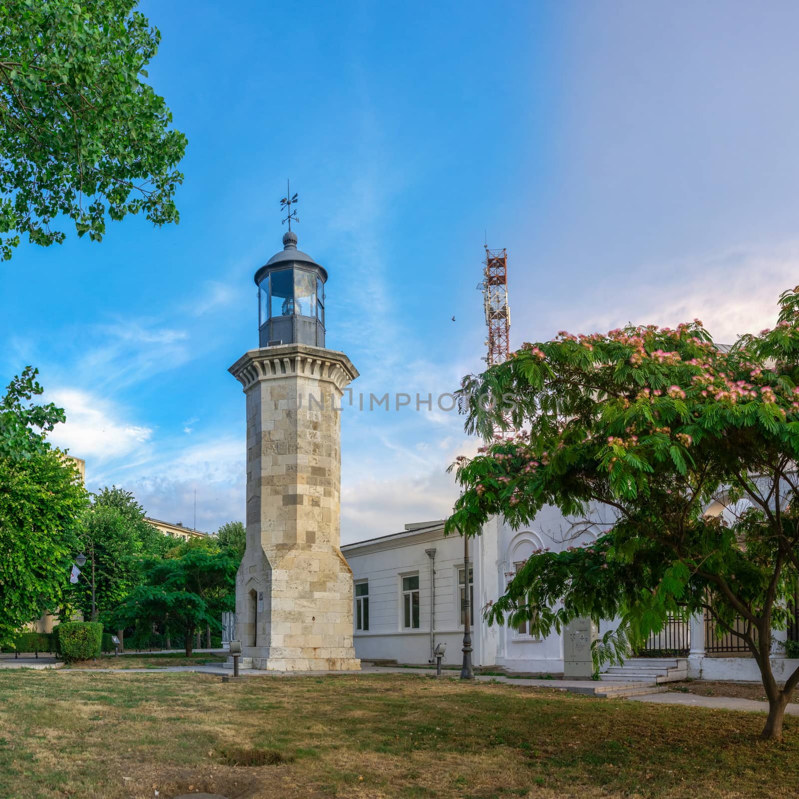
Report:
<svg viewBox="0 0 799 799"><path fill-rule="evenodd" d="M771 2L142 2L150 80L189 137L181 223L22 244L2 269L0 377L66 407L87 482L213 530L244 516L252 274L328 269L355 392L479 369L483 236L507 247L512 344L699 316L773 321L799 278L799 6ZM456 321L451 321L455 315ZM342 540L439 519L473 451L455 413L343 413Z"/></svg>

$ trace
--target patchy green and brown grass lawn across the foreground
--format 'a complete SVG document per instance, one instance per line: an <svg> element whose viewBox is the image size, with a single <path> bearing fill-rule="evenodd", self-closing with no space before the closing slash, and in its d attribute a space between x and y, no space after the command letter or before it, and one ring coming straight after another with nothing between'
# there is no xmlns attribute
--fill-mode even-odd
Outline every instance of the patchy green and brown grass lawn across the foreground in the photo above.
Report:
<svg viewBox="0 0 799 799"><path fill-rule="evenodd" d="M795 797L799 718L385 674L0 671L0 797Z"/></svg>

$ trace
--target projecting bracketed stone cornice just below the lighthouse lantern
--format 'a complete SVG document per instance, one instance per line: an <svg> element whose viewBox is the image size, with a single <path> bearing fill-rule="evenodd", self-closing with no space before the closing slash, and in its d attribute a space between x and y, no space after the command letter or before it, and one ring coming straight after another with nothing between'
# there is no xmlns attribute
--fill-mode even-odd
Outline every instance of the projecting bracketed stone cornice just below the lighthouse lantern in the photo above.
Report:
<svg viewBox="0 0 799 799"><path fill-rule="evenodd" d="M298 376L312 377L336 385L344 391L358 376L344 352L308 344L282 344L245 352L228 372L239 381L246 392L261 380Z"/></svg>

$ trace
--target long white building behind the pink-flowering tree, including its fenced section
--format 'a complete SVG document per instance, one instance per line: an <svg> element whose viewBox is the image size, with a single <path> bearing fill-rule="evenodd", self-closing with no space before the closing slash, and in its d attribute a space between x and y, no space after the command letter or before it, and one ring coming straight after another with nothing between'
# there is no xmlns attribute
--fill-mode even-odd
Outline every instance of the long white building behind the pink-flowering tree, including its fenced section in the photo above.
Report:
<svg viewBox="0 0 799 799"><path fill-rule="evenodd" d="M720 513L714 503L711 513ZM597 509L592 517L601 519ZM426 664L436 644L447 644L446 665L463 658L463 538L444 536L443 521L407 524L393 535L348 544L341 548L355 580L355 649L364 660L393 660ZM487 626L483 608L504 593L515 570L537 549L562 551L590 543L601 521L590 527L572 524L554 507L545 507L535 523L514 531L492 519L483 534L469 540L474 666L499 666L510 671L560 674L563 637L551 633L532 638L524 628ZM604 622L600 634L614 626ZM785 658L785 638L799 639L799 626L786 635L774 631L772 667L785 679L799 661ZM757 664L737 638L714 636L714 623L692 618L690 624L670 622L650 638L650 654L684 658L681 670L694 678L759 681ZM646 654L646 653L644 653ZM635 670L630 663L630 670ZM685 671L683 671L683 674Z"/></svg>

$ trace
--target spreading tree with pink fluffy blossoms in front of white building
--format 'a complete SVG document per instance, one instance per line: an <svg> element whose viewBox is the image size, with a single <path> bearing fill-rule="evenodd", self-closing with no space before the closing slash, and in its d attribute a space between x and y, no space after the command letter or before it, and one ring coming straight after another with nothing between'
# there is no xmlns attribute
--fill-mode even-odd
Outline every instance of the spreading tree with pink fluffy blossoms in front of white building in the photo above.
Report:
<svg viewBox="0 0 799 799"><path fill-rule="evenodd" d="M699 320L561 332L464 379L467 431L529 431L458 459L463 495L447 521L478 535L490 515L518 528L547 504L589 525L601 513L594 543L528 559L488 621L546 635L614 618L639 646L669 614L707 611L757 662L767 738L781 737L799 682L797 670L778 685L769 659L799 573L799 287L780 304L776 328L731 347ZM512 410L486 410L488 394Z"/></svg>

